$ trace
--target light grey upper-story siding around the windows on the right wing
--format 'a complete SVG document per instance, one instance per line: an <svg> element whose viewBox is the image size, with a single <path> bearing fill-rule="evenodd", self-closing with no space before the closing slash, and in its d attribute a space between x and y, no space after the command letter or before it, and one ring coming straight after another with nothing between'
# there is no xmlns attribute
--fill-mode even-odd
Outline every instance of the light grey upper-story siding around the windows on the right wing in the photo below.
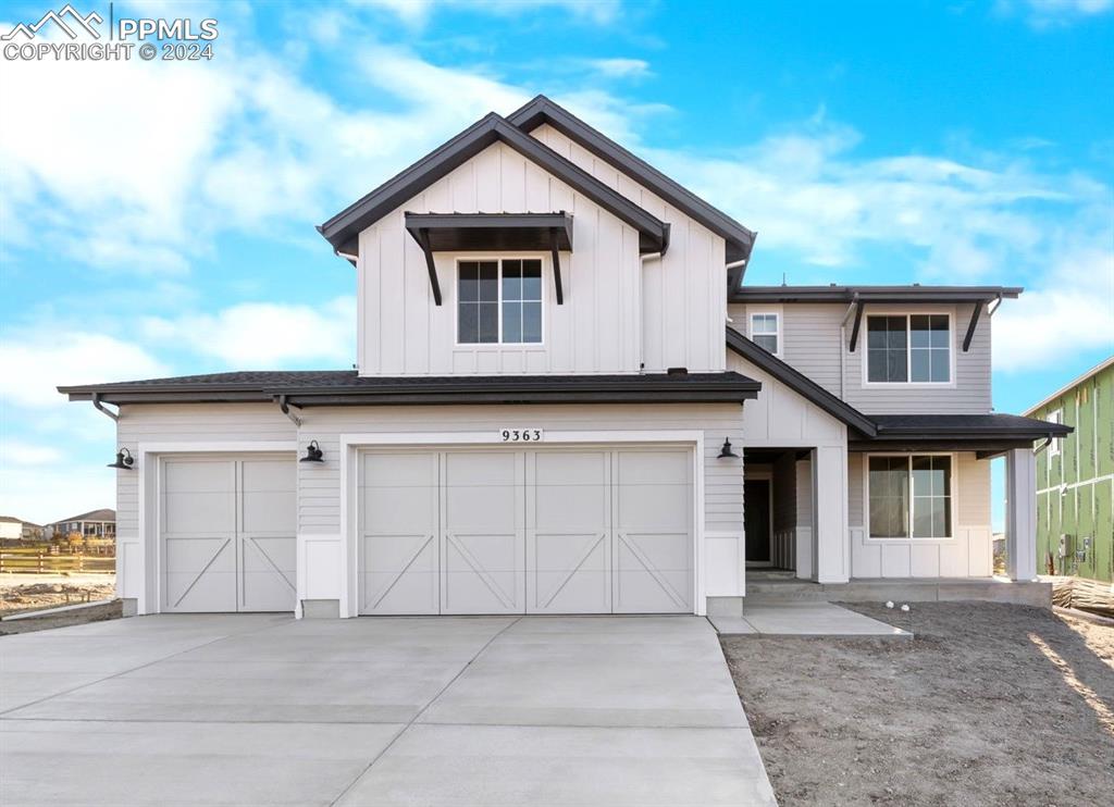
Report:
<svg viewBox="0 0 1114 807"><path fill-rule="evenodd" d="M986 414L990 411L990 317L979 317L970 350L962 351L970 322L970 305L909 304L902 306L867 305L854 353L849 350L849 321L841 338L840 325L848 306L839 303L784 303L773 306L782 312L781 358L809 378L864 414ZM732 304L729 316L734 327L747 334L747 312L770 311L771 306ZM863 383L867 355L867 322L870 314L944 313L951 317L952 382L940 385ZM843 358L840 383L840 354Z"/></svg>

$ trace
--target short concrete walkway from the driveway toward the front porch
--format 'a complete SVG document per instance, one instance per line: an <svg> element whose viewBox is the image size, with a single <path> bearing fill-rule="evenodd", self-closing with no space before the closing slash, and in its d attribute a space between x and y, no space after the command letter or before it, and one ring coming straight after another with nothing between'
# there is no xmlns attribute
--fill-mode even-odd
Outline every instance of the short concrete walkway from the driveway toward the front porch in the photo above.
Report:
<svg viewBox="0 0 1114 807"><path fill-rule="evenodd" d="M743 616L712 617L724 636L880 636L910 638L912 633L864 617L831 602L744 604Z"/></svg>

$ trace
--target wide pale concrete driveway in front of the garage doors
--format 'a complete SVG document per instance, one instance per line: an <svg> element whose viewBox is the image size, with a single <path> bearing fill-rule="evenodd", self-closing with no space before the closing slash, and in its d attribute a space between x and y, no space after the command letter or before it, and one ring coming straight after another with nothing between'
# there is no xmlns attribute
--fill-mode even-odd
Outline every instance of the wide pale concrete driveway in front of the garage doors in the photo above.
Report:
<svg viewBox="0 0 1114 807"><path fill-rule="evenodd" d="M4 805L755 805L693 617L163 616L0 638Z"/></svg>

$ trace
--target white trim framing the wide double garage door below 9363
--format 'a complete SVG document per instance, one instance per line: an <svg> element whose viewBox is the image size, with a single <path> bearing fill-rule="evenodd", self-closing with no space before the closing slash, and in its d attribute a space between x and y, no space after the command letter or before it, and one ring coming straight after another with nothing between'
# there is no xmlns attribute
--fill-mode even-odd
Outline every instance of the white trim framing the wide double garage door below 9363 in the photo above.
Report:
<svg viewBox="0 0 1114 807"><path fill-rule="evenodd" d="M541 443L517 445L518 449L544 449L546 445L586 446L600 445L676 445L693 449L693 604L694 613L704 616L704 433L691 430L666 431L551 431L545 432ZM360 449L383 446L490 446L506 445L496 430L483 432L417 432L394 434L342 434L341 451L341 535L344 552L341 554L341 617L356 617L360 612L360 557L356 530L355 485L359 479L356 460ZM509 446L510 447L510 446Z"/></svg>

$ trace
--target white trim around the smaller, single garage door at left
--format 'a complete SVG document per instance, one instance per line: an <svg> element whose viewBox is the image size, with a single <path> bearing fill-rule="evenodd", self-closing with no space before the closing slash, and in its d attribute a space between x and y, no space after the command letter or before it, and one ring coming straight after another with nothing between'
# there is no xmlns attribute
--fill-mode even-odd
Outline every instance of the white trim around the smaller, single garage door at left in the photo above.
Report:
<svg viewBox="0 0 1114 807"><path fill-rule="evenodd" d="M158 531L158 469L159 457L166 454L291 454L296 461L297 442L285 440L260 441L197 441L189 443L139 443L136 445L135 473L139 474L137 492L137 523L139 524L138 557L135 562L143 569L137 613L159 613L163 601L160 582L162 550ZM119 574L117 589L119 589ZM119 596L119 591L117 590Z"/></svg>

